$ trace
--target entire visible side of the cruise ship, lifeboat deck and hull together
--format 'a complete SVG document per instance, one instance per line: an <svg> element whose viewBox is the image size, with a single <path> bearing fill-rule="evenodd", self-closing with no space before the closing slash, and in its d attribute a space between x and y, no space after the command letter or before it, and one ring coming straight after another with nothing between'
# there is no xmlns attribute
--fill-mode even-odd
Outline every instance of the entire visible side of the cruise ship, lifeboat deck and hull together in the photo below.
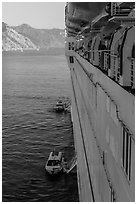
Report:
<svg viewBox="0 0 137 204"><path fill-rule="evenodd" d="M135 5L67 3L79 200L135 201Z"/></svg>

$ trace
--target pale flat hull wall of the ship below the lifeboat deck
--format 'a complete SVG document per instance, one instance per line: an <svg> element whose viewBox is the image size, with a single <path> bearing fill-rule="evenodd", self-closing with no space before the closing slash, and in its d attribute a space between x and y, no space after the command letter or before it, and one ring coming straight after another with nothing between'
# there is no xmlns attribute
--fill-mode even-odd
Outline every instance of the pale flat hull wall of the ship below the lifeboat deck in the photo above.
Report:
<svg viewBox="0 0 137 204"><path fill-rule="evenodd" d="M73 50L66 50L72 84L79 200L134 201L122 168L122 124L134 132L134 96Z"/></svg>

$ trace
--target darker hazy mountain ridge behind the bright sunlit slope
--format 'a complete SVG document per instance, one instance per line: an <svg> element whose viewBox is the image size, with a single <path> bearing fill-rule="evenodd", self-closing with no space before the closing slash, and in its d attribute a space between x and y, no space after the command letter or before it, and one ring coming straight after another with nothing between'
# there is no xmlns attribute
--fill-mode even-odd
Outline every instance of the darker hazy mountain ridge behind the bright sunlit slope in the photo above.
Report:
<svg viewBox="0 0 137 204"><path fill-rule="evenodd" d="M13 27L15 31L28 37L39 48L63 48L64 30L63 29L36 29L27 24Z"/></svg>

